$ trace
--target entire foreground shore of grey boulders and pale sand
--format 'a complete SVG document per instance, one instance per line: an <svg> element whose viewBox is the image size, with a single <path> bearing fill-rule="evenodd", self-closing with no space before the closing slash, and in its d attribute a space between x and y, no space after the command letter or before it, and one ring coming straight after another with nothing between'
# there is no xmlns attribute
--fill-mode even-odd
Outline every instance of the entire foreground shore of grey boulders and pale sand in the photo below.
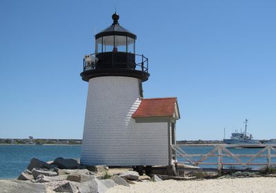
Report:
<svg viewBox="0 0 276 193"><path fill-rule="evenodd" d="M133 171L131 167L108 168L105 165L81 165L79 160L63 159L61 157L55 159L55 161L48 162L34 158L17 179L0 180L0 193L145 193L202 192L203 190L206 190L206 192L213 192L215 191L213 190L214 186L221 188L221 190L226 190L228 188L228 192L233 192L235 186L229 187L228 184L241 184L239 188L242 188L242 181L252 183L252 186L263 186L263 184L267 183L267 185L262 187L262 190L264 192L271 192L271 190L275 190L275 187L270 184L276 183L276 169L274 167L270 169L269 171L265 170L263 174L244 171L233 172L224 176L219 176L217 172L188 172L181 175L182 177L161 174L139 176L139 173ZM199 183L199 181L202 182ZM206 183L204 181L206 181ZM261 181L262 183L260 183ZM195 185L195 187L193 187L193 185ZM210 187L208 187L208 185ZM187 186L190 187L189 190L186 190ZM145 189L145 187L147 187L147 189ZM208 188L202 189L203 187ZM243 192L246 191L247 190L243 190ZM250 189L249 192L255 191Z"/></svg>

